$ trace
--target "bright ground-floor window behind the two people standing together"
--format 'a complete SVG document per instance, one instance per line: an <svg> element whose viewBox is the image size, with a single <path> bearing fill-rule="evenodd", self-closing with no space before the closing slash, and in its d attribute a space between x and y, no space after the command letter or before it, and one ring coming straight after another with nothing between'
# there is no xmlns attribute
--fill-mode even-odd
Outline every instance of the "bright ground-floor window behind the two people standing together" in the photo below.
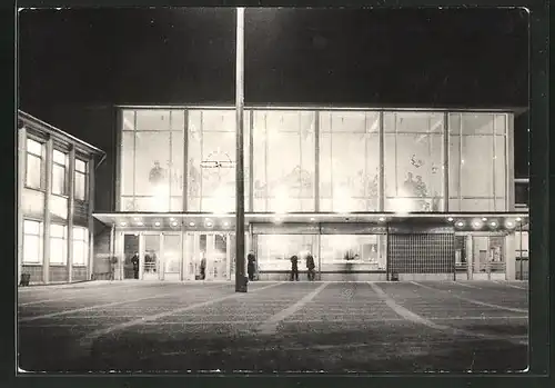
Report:
<svg viewBox="0 0 555 388"><path fill-rule="evenodd" d="M259 270L291 270L291 257L296 255L300 259L299 269L306 268L306 256L313 255L317 262L316 236L314 235L259 235L258 236L258 263Z"/></svg>

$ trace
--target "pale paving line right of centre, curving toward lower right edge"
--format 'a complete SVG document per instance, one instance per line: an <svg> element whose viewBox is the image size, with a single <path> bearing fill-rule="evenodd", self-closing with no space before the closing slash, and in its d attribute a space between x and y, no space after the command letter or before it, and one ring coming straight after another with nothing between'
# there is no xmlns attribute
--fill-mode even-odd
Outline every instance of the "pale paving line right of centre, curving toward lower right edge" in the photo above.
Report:
<svg viewBox="0 0 555 388"><path fill-rule="evenodd" d="M412 281L411 281L412 282ZM393 300L392 297L390 297L381 287L379 287L375 283L372 283L372 282L369 282L370 287L372 287L372 289L374 290L374 292L376 292L381 298L382 300L395 312L400 317L402 318L405 318L406 320L410 320L410 321L413 321L415 324L420 324L420 325L423 325L423 326L427 326L432 329L435 329L435 330L441 330L441 331L452 331L454 334L458 334L458 335L463 335L463 336L467 336L467 337L477 337L477 338L483 338L483 339L492 339L492 340L507 340L509 342L516 342L518 345L527 345L528 342L527 341L523 341L521 339L514 339L512 337L501 337L501 336L494 336L494 335L485 335L485 334L481 334L481 332L473 332L473 331L468 331L468 330L463 330L463 329L458 329L458 328L454 328L454 327L451 327L451 326L446 326L446 325L438 325L438 324L435 324L433 321L431 321L430 319L426 319L424 317L421 317L418 316L417 314L406 309L405 307L398 305L395 300ZM523 344L524 342L524 344Z"/></svg>

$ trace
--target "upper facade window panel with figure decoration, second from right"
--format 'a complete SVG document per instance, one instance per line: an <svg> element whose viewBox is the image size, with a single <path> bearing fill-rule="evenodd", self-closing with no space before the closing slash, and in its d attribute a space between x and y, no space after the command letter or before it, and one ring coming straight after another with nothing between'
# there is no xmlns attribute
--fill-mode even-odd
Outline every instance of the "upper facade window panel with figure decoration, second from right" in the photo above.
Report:
<svg viewBox="0 0 555 388"><path fill-rule="evenodd" d="M384 112L385 210L443 211L441 112Z"/></svg>

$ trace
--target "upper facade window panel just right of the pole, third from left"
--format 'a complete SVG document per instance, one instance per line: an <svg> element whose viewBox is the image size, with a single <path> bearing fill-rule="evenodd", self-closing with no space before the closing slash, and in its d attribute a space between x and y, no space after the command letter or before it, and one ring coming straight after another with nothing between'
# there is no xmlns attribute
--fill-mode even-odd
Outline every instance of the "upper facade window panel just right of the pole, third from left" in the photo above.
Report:
<svg viewBox="0 0 555 388"><path fill-rule="evenodd" d="M314 211L314 112L253 115L254 211Z"/></svg>

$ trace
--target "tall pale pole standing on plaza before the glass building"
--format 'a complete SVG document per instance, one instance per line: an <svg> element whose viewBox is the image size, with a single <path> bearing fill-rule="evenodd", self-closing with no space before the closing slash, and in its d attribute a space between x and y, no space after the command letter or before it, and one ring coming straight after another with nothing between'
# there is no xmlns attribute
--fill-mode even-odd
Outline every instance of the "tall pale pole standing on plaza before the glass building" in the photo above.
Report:
<svg viewBox="0 0 555 388"><path fill-rule="evenodd" d="M243 106L244 106L244 8L238 7L236 26L236 166L235 166L235 292L246 292L244 282L244 155L243 155Z"/></svg>

